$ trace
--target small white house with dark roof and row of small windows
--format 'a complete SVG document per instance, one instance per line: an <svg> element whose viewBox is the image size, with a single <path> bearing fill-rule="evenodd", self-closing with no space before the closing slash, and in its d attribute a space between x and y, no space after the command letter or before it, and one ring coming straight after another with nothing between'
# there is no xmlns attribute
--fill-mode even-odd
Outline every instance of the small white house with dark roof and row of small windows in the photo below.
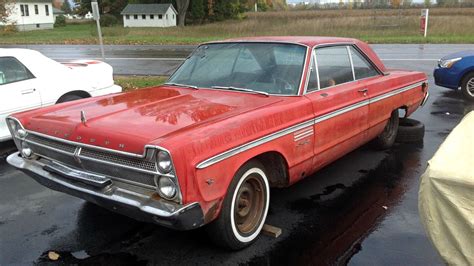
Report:
<svg viewBox="0 0 474 266"><path fill-rule="evenodd" d="M124 27L173 27L178 16L172 4L128 4L120 14Z"/></svg>

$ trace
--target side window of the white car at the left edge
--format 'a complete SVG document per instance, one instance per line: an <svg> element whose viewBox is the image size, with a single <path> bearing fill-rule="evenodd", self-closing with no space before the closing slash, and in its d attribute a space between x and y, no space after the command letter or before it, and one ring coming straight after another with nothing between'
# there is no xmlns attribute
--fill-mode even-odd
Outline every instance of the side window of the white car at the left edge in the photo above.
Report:
<svg viewBox="0 0 474 266"><path fill-rule="evenodd" d="M0 57L0 85L33 77L33 74L16 58Z"/></svg>

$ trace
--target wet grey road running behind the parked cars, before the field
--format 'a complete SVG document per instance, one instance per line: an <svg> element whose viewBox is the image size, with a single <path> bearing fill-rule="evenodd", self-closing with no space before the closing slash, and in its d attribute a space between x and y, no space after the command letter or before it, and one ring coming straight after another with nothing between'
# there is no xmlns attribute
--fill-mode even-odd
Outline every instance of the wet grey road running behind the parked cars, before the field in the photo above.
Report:
<svg viewBox="0 0 474 266"><path fill-rule="evenodd" d="M42 52L57 61L100 59L97 45L0 45L0 47L28 48ZM170 75L193 51L193 45L106 45L106 62L118 75ZM424 62L436 60L452 51L472 50L468 44L374 44L372 48L386 63ZM429 71L431 73L431 71Z"/></svg>

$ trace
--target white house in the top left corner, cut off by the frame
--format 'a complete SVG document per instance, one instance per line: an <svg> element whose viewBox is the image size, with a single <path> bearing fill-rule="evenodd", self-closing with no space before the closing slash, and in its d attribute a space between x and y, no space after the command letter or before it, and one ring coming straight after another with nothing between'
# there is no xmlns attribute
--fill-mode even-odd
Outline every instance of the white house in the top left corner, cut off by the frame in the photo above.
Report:
<svg viewBox="0 0 474 266"><path fill-rule="evenodd" d="M17 0L7 8L10 10L7 22L0 25L16 25L21 31L53 28L51 0Z"/></svg>

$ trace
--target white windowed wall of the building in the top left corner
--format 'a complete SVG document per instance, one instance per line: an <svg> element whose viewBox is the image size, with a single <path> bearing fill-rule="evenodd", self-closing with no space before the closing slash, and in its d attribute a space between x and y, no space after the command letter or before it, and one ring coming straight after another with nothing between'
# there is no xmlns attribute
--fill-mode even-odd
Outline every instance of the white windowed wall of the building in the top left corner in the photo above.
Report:
<svg viewBox="0 0 474 266"><path fill-rule="evenodd" d="M24 16L21 14L21 5L28 6ZM35 5L38 6L38 14L35 12ZM48 6L49 15L46 15L45 6ZM15 24L19 30L51 29L54 24L53 5L51 3L21 3L18 1L11 9L7 25Z"/></svg>

